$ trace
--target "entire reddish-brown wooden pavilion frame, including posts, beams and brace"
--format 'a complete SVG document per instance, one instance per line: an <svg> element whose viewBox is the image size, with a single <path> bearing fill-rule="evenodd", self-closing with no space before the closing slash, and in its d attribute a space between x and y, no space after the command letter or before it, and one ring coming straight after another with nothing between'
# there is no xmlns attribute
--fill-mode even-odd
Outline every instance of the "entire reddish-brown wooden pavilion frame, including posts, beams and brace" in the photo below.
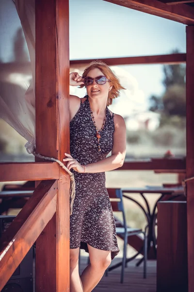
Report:
<svg viewBox="0 0 194 292"><path fill-rule="evenodd" d="M115 64L187 64L186 175L194 176L194 7L188 2L107 0L181 22L187 26L187 52L166 56L109 59ZM36 151L62 160L69 151L69 7L68 0L36 0ZM174 1L175 2L175 1ZM172 5L171 5L172 4ZM112 61L111 61L112 60ZM81 60L83 63L83 60ZM80 63L81 63L80 61ZM84 60L89 61L89 60ZM71 61L71 64L78 61ZM129 169L132 164L125 164ZM146 165L146 166L145 166ZM157 167L158 165L158 167ZM136 165L136 169L185 169L184 162ZM133 164L134 167L135 165ZM133 168L134 169L134 168ZM0 290L36 240L36 292L69 291L69 176L56 163L0 164L1 181L36 180L25 204L0 243ZM194 180L187 186L189 292L194 289ZM22 243L25 242L25 245ZM25 246L25 248L24 248ZM6 264L5 264L6 263ZM44 270L45 268L45 270Z"/></svg>

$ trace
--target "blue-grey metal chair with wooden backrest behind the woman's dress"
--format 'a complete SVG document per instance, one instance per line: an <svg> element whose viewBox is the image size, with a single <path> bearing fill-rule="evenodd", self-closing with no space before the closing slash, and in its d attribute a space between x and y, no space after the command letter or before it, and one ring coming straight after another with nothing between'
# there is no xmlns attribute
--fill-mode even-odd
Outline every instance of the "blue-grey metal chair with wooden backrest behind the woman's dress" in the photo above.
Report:
<svg viewBox="0 0 194 292"><path fill-rule="evenodd" d="M127 259L127 244L128 244L128 237L133 236L133 235L139 235L143 234L144 235L144 278L146 278L146 263L147 263L147 236L146 236L146 229L143 231L142 229L138 228L130 228L127 226L126 218L125 218L125 211L124 211L124 206L123 206L123 193L121 189L116 189L116 188L108 188L108 194L109 198L111 201L112 209L113 212L121 212L122 217L123 217L123 224L122 227L117 227L116 226L116 234L120 235L123 240L124 240L124 248L123 248L123 259L121 263L117 263L115 265L111 265L107 270L106 270L106 275L108 275L109 271L112 271L113 269L119 267L122 265L121 269L121 278L120 282L124 282L124 270L125 267L127 266L127 262L135 258L139 253L137 253L135 256L133 256L130 259ZM116 222L115 222L116 223ZM119 223L121 223L119 221Z"/></svg>

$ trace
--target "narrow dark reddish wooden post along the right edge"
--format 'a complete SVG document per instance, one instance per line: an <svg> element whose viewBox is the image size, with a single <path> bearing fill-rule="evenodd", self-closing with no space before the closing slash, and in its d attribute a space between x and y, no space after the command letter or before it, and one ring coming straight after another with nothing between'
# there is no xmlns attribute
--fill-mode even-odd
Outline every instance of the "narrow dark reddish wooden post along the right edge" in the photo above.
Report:
<svg viewBox="0 0 194 292"><path fill-rule="evenodd" d="M186 27L186 177L194 177L194 26ZM187 237L189 292L194 291L194 180L187 182Z"/></svg>

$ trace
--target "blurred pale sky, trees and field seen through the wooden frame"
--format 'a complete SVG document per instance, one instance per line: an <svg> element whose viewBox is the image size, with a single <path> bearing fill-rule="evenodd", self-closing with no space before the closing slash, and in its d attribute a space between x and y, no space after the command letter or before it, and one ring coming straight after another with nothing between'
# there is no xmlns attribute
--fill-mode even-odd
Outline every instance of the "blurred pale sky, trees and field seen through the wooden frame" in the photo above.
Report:
<svg viewBox="0 0 194 292"><path fill-rule="evenodd" d="M102 0L71 0L69 4L70 60L186 52L185 25L181 23ZM3 18L3 6L1 8ZM4 38L3 43L1 40L0 45L1 75L17 62L26 68L26 74L15 72L9 82L1 78L0 90L5 83L19 86L18 80L27 88L32 80L26 41L20 20L13 11L10 10L13 17L7 24L10 28L14 26L13 34ZM3 29L1 26L0 34ZM18 46L23 49L22 55L17 54ZM110 106L110 110L122 115L126 122L126 160L162 158L167 151L175 157L185 157L185 65L122 65L111 66L111 69L126 88ZM70 72L80 74L83 70L80 66L70 68ZM24 87L23 94L25 91ZM70 93L83 97L86 90L71 87ZM33 155L26 152L26 142L0 119L0 162L34 161ZM177 183L178 175L115 170L106 173L106 179L107 187L144 187ZM3 184L0 183L0 187ZM158 195L146 197L153 206ZM134 198L142 202L137 194ZM125 209L131 227L145 227L146 220L137 205L125 200ZM17 212L10 210L10 214ZM133 253L132 249L129 253Z"/></svg>

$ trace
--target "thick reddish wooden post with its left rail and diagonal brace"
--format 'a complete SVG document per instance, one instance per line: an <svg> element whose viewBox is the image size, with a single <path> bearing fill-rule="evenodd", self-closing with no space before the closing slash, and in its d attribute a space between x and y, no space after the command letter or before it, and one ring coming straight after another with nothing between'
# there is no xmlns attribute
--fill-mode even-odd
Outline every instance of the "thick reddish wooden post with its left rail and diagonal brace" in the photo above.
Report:
<svg viewBox="0 0 194 292"><path fill-rule="evenodd" d="M35 4L36 151L62 160L69 152L68 0ZM69 175L47 162L1 164L1 172L6 181L42 182L2 238L0 290L36 241L36 292L69 291Z"/></svg>

